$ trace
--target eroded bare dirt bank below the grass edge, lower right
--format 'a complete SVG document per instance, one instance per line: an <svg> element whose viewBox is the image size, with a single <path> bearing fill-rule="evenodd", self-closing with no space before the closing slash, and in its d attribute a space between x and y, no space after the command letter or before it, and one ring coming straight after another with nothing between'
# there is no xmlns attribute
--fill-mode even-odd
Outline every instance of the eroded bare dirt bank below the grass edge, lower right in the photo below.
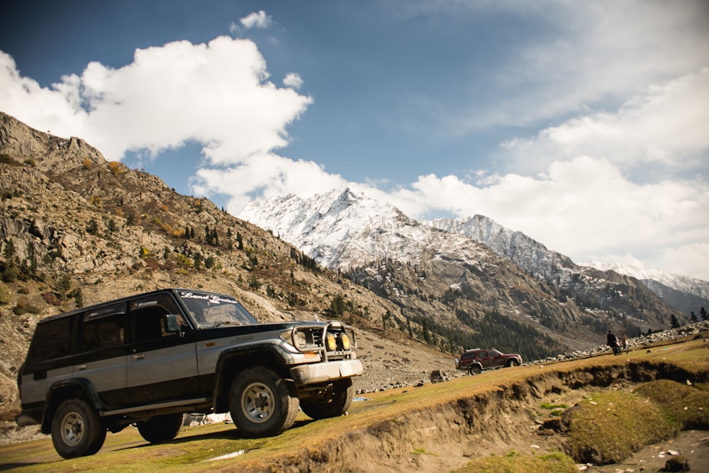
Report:
<svg viewBox="0 0 709 473"><path fill-rule="evenodd" d="M434 472L462 467L475 457L510 451L569 453L567 438L545 429L540 403L573 406L598 389L631 389L655 379L707 382L709 374L705 378L696 380L696 374L661 362L552 370L492 386L467 398L398 413L297 455L250 464L249 468L264 472ZM709 449L709 442L704 445Z"/></svg>

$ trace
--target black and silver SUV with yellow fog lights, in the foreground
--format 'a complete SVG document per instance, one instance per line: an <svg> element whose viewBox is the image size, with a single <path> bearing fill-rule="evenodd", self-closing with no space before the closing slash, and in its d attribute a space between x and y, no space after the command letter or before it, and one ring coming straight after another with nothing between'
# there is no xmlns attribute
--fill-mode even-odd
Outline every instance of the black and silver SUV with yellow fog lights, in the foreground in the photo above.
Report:
<svg viewBox="0 0 709 473"><path fill-rule="evenodd" d="M330 322L257 323L232 296L162 289L38 323L18 373L18 425L40 424L65 458L106 432L172 440L185 413L226 413L247 437L346 413L362 362Z"/></svg>

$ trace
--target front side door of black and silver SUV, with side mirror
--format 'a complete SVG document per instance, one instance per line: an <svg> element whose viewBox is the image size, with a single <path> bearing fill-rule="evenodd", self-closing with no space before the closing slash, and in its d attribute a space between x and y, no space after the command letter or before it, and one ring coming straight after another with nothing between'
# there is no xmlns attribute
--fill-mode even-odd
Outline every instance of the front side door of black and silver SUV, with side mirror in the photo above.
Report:
<svg viewBox="0 0 709 473"><path fill-rule="evenodd" d="M167 316L177 317L177 332ZM128 389L134 404L156 404L199 397L194 333L168 293L130 301Z"/></svg>

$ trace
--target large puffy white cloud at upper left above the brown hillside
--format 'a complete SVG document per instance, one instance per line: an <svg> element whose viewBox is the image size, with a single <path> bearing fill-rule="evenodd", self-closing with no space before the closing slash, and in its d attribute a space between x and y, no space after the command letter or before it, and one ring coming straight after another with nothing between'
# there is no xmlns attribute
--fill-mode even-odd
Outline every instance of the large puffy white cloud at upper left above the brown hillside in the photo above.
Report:
<svg viewBox="0 0 709 473"><path fill-rule="evenodd" d="M228 37L136 50L120 69L91 62L81 77L62 77L52 89L20 77L9 56L0 60L6 113L57 135L81 136L108 160L196 140L214 165L240 162L285 146L286 126L312 102L267 81L254 43Z"/></svg>

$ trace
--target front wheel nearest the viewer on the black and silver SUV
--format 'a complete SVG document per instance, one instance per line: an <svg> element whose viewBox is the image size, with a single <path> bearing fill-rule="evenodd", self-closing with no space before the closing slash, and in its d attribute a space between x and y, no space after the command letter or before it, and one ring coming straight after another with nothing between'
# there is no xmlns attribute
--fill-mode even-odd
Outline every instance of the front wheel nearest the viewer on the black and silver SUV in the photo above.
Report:
<svg viewBox="0 0 709 473"><path fill-rule="evenodd" d="M296 421L298 398L291 396L284 379L266 367L240 372L229 393L232 421L247 437L270 437Z"/></svg>

